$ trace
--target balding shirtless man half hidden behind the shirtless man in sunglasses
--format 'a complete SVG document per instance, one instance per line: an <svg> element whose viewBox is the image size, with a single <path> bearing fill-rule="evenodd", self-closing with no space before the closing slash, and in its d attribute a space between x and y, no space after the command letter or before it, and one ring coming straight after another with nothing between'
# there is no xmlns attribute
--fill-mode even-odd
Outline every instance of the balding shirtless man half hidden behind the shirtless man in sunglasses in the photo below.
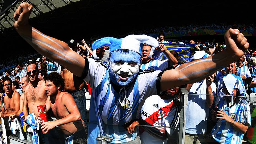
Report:
<svg viewBox="0 0 256 144"><path fill-rule="evenodd" d="M24 76L21 81L20 81L20 87L22 88L22 94L20 95L20 110L16 114L10 115L9 119L13 121L15 118L17 118L20 113L23 111L23 103L24 103L24 92L25 92L25 87L30 84L29 78L27 76ZM24 115L23 115L24 116ZM23 117L22 116L22 117ZM21 117L21 118L22 118Z"/></svg>

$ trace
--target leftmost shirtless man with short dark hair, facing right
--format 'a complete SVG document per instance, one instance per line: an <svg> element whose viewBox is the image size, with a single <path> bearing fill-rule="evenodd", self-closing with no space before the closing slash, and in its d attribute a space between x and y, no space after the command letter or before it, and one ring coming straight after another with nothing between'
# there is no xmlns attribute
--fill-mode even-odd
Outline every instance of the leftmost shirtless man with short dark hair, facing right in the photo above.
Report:
<svg viewBox="0 0 256 144"><path fill-rule="evenodd" d="M0 117L6 118L12 114L16 114L20 110L20 94L12 90L12 80L6 76L3 80L4 91L6 93L4 102L1 102Z"/></svg>

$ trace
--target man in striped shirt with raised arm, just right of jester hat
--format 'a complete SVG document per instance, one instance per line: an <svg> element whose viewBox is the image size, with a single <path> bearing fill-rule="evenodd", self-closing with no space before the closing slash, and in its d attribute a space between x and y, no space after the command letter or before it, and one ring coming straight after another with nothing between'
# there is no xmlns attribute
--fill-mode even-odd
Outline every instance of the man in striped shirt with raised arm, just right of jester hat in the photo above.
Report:
<svg viewBox="0 0 256 144"><path fill-rule="evenodd" d="M160 49L160 45L162 49ZM142 70L164 70L168 68L169 66L175 65L178 63L177 59L172 55L169 50L164 46L164 44L159 44L159 47L156 47L156 49L160 52L163 52L167 60L153 60L152 57L148 57L149 55L152 55L151 51L152 46L145 44L142 47L142 65L140 66L140 69Z"/></svg>

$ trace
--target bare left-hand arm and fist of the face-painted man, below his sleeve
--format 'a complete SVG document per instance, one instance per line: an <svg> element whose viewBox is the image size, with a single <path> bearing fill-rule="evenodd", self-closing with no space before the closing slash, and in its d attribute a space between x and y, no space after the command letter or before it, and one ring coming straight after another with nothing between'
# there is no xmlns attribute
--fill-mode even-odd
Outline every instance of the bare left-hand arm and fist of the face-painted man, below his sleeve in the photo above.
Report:
<svg viewBox="0 0 256 144"><path fill-rule="evenodd" d="M60 63L76 76L82 76L84 58L63 41L47 36L28 24L33 6L23 2L14 13L14 28L37 52Z"/></svg>

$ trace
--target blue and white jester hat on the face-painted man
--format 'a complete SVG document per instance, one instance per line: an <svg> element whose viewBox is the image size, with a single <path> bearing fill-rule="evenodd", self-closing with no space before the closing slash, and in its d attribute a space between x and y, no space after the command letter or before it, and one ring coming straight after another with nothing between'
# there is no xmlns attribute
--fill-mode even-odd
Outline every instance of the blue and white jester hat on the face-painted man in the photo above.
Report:
<svg viewBox="0 0 256 144"><path fill-rule="evenodd" d="M148 55L148 57L151 57L153 55L153 52L156 47L158 47L158 41L150 36L147 35L129 35L126 36L125 38L121 39L116 39L113 37L106 37L106 38L101 38L95 41L92 44L92 49L93 49L93 57L95 59L98 59L96 55L96 49L103 47L103 46L109 46L110 51L109 53L118 50L118 49L128 49L137 52L140 56L142 56L142 49L140 47L141 43L148 44L152 46L151 52Z"/></svg>

